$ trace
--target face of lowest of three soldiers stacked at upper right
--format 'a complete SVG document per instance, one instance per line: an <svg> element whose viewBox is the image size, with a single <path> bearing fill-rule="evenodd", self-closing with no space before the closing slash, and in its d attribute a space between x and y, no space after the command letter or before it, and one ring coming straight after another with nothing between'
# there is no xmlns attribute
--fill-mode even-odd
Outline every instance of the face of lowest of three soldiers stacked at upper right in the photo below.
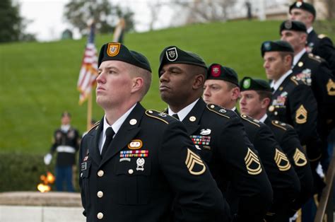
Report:
<svg viewBox="0 0 335 222"><path fill-rule="evenodd" d="M283 58L279 52L265 52L264 64L266 78L277 81L286 73Z"/></svg>

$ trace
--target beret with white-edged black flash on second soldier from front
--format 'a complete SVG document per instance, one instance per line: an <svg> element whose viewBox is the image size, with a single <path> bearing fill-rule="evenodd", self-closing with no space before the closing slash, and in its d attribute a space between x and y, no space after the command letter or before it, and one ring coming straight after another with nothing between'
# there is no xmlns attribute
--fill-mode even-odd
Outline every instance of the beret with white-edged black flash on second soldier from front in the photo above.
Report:
<svg viewBox="0 0 335 222"><path fill-rule="evenodd" d="M169 46L163 49L159 57L160 65L158 68L158 75L165 64L191 64L194 66L201 66L207 69L204 59L194 52L183 51L176 46Z"/></svg>

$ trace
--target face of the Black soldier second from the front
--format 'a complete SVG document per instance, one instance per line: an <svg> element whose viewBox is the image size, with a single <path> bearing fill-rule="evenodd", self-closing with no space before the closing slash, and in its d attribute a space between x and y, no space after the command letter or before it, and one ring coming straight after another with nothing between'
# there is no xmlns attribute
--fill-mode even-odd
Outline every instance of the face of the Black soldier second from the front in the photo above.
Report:
<svg viewBox="0 0 335 222"><path fill-rule="evenodd" d="M192 65L166 64L160 70L160 97L168 105L182 104L194 93Z"/></svg>

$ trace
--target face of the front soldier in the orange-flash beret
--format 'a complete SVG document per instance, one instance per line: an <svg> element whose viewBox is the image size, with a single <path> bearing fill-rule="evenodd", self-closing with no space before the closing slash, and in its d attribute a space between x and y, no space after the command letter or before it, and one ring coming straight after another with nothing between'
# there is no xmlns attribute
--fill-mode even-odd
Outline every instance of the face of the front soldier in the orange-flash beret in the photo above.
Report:
<svg viewBox="0 0 335 222"><path fill-rule="evenodd" d="M121 61L100 64L96 102L102 108L119 107L131 96L131 65Z"/></svg>

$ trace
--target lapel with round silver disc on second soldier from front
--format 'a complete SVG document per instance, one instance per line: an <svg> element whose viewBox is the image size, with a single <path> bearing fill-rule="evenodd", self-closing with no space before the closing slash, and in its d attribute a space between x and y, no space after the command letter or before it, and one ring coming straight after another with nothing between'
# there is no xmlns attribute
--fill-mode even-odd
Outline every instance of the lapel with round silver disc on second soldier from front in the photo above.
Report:
<svg viewBox="0 0 335 222"><path fill-rule="evenodd" d="M189 135L194 134L194 132L196 132L196 130L199 129L200 118L202 114L204 113L205 109L206 109L206 103L204 102L202 98L199 98L198 102L196 102L196 104L194 105L192 110L189 112L189 114L182 120L182 122L184 123L187 129L187 133ZM196 119L192 122L190 119L194 119L194 117Z"/></svg>

